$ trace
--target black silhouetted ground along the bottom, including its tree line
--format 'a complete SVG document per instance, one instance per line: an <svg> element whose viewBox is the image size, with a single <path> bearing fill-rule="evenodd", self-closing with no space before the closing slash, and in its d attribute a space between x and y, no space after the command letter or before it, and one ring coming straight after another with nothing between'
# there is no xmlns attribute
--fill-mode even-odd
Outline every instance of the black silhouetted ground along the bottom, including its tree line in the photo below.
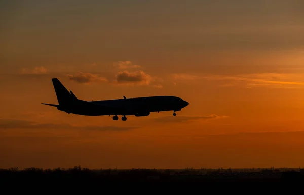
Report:
<svg viewBox="0 0 304 195"><path fill-rule="evenodd" d="M0 170L2 194L302 194L303 184L300 169Z"/></svg>

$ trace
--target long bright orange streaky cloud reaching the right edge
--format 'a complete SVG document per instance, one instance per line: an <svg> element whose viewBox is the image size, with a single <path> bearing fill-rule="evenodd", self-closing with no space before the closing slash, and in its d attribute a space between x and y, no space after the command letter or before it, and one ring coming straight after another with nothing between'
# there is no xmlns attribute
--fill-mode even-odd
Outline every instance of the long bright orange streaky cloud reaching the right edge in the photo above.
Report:
<svg viewBox="0 0 304 195"><path fill-rule="evenodd" d="M177 81L227 81L221 84L222 87L245 86L253 88L257 86L276 87L276 88L294 88L304 87L304 82L295 81L303 78L298 74L278 74L278 73L258 73L258 74L238 74L238 75L192 75L192 74L173 74L173 79Z"/></svg>

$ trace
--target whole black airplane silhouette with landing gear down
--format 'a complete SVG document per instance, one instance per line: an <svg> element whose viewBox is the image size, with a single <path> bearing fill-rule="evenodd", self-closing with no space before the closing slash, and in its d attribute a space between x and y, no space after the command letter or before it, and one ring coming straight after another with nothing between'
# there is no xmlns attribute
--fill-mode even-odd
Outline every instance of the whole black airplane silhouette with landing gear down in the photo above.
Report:
<svg viewBox="0 0 304 195"><path fill-rule="evenodd" d="M113 120L118 120L117 115L121 115L122 120L127 120L127 115L135 115L136 117L149 116L150 112L176 111L189 105L188 102L176 96L149 96L134 97L116 100L101 101L84 101L78 99L72 91L68 91L63 84L57 79L52 78L53 86L57 96L58 104L43 105L56 107L58 110L68 114L77 114L85 116L104 116L114 115Z"/></svg>

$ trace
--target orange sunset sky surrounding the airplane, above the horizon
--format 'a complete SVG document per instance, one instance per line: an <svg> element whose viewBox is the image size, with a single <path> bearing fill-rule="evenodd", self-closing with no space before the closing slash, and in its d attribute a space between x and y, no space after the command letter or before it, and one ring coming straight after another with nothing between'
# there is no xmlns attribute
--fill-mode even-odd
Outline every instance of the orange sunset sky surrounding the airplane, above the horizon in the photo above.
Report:
<svg viewBox="0 0 304 195"><path fill-rule="evenodd" d="M2 1L0 168L304 166L304 2ZM68 115L87 101L174 95L148 117Z"/></svg>

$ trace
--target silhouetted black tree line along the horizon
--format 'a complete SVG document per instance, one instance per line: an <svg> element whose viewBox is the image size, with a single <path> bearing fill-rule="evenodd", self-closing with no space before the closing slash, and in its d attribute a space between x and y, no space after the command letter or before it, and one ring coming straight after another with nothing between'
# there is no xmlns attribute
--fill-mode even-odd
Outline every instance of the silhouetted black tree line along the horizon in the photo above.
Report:
<svg viewBox="0 0 304 195"><path fill-rule="evenodd" d="M278 180L278 179L303 179L304 172L299 170L280 171L279 169L261 169L259 172L237 172L231 168L217 170L214 169L193 169L186 168L184 170L157 170L157 169L100 169L90 170L75 166L73 168L55 168L55 169L41 169L41 168L25 168L19 170L16 168L0 169L0 179L2 181L207 181L210 178L230 179L239 181L242 179L264 179L264 180Z"/></svg>

